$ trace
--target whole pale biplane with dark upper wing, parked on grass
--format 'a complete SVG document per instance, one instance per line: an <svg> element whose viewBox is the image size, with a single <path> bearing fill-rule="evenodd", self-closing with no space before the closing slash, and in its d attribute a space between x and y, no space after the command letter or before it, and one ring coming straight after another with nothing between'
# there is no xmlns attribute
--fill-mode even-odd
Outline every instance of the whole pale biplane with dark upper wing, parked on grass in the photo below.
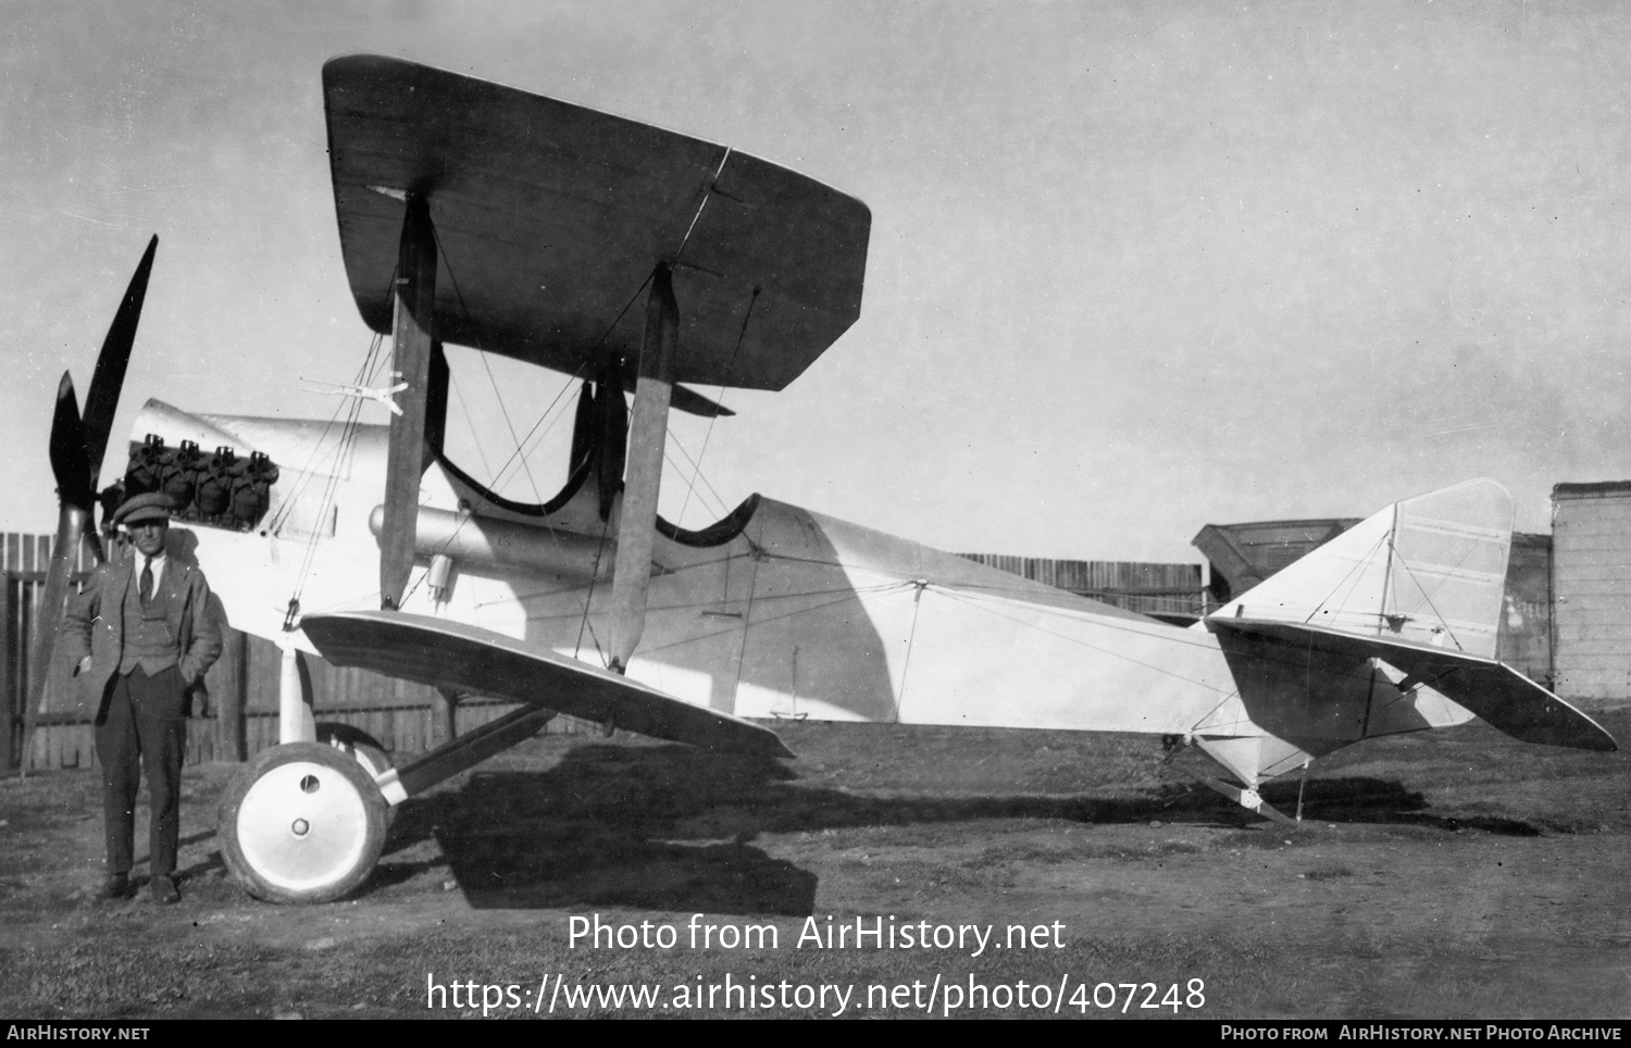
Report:
<svg viewBox="0 0 1631 1048"><path fill-rule="evenodd" d="M714 386L781 390L856 321L866 205L734 148L396 59L334 59L323 90L352 297L375 347L391 339L388 365L329 385L391 407L388 425L148 401L98 495L155 238L83 417L65 375L51 438L47 610L69 553L98 541L98 497L106 518L165 491L188 539L173 554L206 569L232 626L284 652L281 745L220 812L253 895L356 890L393 805L556 714L765 756L788 756L778 719L1142 732L1212 758L1227 779L1207 782L1271 817L1271 777L1474 716L1615 748L1496 658L1512 500L1487 479L1398 502L1189 627L757 494L701 530L667 522L669 414L729 414ZM555 497L519 502L449 458L445 346L581 383ZM393 766L320 730L303 654L520 706Z"/></svg>

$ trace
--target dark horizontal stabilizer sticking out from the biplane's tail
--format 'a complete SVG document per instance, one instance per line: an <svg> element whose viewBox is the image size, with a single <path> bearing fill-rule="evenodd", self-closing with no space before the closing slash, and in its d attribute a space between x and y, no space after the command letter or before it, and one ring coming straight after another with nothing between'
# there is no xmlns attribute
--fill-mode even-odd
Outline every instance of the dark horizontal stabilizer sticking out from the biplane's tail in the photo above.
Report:
<svg viewBox="0 0 1631 1048"><path fill-rule="evenodd" d="M1272 637L1316 652L1347 655L1355 662L1381 658L1401 670L1408 681L1439 691L1523 742L1576 750L1618 750L1615 737L1595 720L1494 658L1300 623L1212 618L1207 619L1207 626L1213 631Z"/></svg>

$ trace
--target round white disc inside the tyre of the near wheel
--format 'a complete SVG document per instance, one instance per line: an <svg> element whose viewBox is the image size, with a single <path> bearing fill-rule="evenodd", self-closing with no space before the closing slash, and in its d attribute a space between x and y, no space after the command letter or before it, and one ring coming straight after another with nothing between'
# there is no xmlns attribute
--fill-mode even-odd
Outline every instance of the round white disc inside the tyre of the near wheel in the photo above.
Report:
<svg viewBox="0 0 1631 1048"><path fill-rule="evenodd" d="M238 805L238 849L266 883L310 892L343 880L362 859L369 805L356 784L328 764L272 768Z"/></svg>

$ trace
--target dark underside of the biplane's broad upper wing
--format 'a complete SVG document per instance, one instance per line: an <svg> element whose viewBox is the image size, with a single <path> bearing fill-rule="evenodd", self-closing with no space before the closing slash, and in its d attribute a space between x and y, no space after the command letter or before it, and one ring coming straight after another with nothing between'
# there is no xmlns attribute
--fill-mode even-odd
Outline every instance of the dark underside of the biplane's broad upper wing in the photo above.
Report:
<svg viewBox="0 0 1631 1048"><path fill-rule="evenodd" d="M569 373L633 357L639 310L617 321L667 261L674 380L780 390L861 313L871 212L796 171L398 59L334 59L323 95L346 274L375 331L406 192L431 202L445 342Z"/></svg>

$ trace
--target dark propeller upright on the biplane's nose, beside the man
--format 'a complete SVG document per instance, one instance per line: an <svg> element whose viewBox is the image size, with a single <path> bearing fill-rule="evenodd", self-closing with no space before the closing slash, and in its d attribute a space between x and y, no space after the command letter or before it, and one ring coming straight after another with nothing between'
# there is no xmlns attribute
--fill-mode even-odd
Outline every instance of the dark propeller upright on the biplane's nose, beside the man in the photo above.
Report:
<svg viewBox="0 0 1631 1048"><path fill-rule="evenodd" d="M39 603L39 623L34 634L34 652L29 660L28 706L23 753L26 766L28 737L33 733L34 714L39 712L51 676L51 658L57 649L57 627L62 623L62 601L69 593L69 574L80 543L88 543L99 561L101 544L96 541L93 507L96 479L101 474L103 455L108 451L108 434L119 407L119 388L130 363L135 346L135 328L142 319L142 302L147 298L147 277L153 271L153 253L158 236L147 244L130 285L124 292L119 311L103 339L91 375L90 393L85 396L85 414L80 414L73 394L73 378L64 372L57 386L57 409L51 421L51 471L57 479L57 541L51 549L51 566L46 570L46 592Z"/></svg>

